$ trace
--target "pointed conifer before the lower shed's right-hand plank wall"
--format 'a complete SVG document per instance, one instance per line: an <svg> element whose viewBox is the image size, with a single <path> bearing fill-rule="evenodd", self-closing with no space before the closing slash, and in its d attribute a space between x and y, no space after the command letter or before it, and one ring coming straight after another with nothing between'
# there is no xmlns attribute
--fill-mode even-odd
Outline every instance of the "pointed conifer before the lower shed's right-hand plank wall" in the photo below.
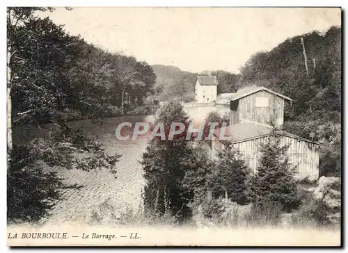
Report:
<svg viewBox="0 0 348 253"><path fill-rule="evenodd" d="M280 204L290 212L300 204L295 169L287 156L288 146L280 145L280 135L273 129L267 142L260 145L261 158L257 172L251 178L248 197L254 206Z"/></svg>

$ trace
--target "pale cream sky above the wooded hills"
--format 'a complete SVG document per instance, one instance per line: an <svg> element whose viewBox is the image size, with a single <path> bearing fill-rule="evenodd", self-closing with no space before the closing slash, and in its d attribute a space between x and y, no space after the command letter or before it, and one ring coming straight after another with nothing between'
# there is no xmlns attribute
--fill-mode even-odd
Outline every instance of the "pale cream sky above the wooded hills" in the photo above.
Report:
<svg viewBox="0 0 348 253"><path fill-rule="evenodd" d="M80 7L48 15L71 35L108 51L191 72L237 73L258 51L341 25L339 8Z"/></svg>

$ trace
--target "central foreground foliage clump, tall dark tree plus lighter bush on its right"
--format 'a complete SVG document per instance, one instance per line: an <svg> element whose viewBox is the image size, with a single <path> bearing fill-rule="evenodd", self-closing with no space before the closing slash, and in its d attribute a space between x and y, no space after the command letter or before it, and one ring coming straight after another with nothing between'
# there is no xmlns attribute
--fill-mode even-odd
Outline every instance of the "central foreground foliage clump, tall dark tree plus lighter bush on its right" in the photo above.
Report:
<svg viewBox="0 0 348 253"><path fill-rule="evenodd" d="M166 140L160 137L150 140L143 154L145 209L160 215L170 213L178 220L185 220L191 216L189 204L193 197L205 196L211 161L207 149L195 145L194 138L186 140L187 130L168 140L172 122L182 122L185 129L189 125L189 118L179 102L161 106L157 122L164 122Z"/></svg>

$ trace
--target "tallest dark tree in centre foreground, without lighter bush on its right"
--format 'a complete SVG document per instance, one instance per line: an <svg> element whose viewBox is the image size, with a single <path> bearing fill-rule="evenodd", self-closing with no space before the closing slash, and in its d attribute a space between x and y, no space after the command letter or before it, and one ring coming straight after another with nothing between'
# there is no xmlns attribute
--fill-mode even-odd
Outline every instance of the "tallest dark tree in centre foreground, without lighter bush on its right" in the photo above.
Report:
<svg viewBox="0 0 348 253"><path fill-rule="evenodd" d="M192 143L185 140L186 131L174 136L173 140L168 140L168 135L172 122L180 122L187 129L189 117L180 103L172 101L159 108L156 121L164 123L166 139L153 138L143 154L141 164L146 182L144 206L150 213L170 213L184 219L190 213L187 206L190 196L182 180L190 166L187 161L193 153Z"/></svg>

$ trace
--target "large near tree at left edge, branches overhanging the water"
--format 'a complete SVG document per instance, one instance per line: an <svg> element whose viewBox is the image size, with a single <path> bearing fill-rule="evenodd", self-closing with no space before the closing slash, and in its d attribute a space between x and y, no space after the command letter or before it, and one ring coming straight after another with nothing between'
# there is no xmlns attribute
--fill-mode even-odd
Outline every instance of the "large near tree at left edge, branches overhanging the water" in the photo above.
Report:
<svg viewBox="0 0 348 253"><path fill-rule="evenodd" d="M84 42L35 16L45 10L8 8L8 222L38 221L59 199L63 182L45 167L116 172L119 157L66 124L67 109L88 113L102 106L86 107L90 93L70 75L84 57ZM12 131L19 124L40 129L42 136L21 140Z"/></svg>

